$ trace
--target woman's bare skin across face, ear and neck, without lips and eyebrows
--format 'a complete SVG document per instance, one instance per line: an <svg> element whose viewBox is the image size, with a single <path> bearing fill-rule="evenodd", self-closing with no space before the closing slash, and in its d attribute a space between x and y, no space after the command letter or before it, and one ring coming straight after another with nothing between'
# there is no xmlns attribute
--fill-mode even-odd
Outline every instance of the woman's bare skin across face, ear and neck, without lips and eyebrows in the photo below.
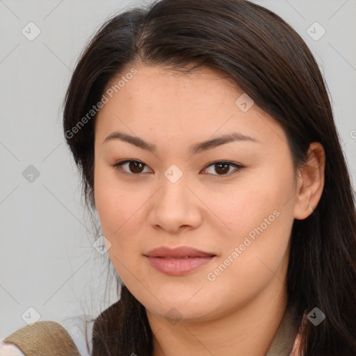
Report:
<svg viewBox="0 0 356 356"><path fill-rule="evenodd" d="M308 205L315 209L323 191L323 147L312 143L308 165L295 171L280 124L256 104L241 111L235 102L243 91L226 76L208 68L184 75L134 67L138 73L95 122L94 191L111 243L109 257L146 308L153 355L265 355L286 308L293 220L307 218ZM143 138L156 152L119 139L103 143L114 131ZM236 141L197 154L188 150L232 132L258 142ZM125 159L144 165L113 167ZM229 165L223 175L211 165L216 161L244 168ZM173 164L182 173L175 183L164 175ZM279 216L208 280L207 274L276 210ZM169 276L143 256L162 245L188 245L217 257L188 275ZM170 310L179 318L175 324L165 318Z"/></svg>

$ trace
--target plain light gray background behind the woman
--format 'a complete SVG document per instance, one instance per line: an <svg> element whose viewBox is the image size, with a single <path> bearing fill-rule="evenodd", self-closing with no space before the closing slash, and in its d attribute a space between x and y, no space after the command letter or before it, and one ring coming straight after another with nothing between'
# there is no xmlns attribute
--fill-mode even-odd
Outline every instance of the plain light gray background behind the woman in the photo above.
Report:
<svg viewBox="0 0 356 356"><path fill-rule="evenodd" d="M289 22L316 56L355 187L356 1L254 2ZM104 293L113 270L106 268L107 254L92 246L97 236L64 142L61 103L95 29L138 4L143 1L0 0L0 339L38 314L76 327L79 316L95 317L115 302L113 284ZM34 40L22 33L35 33L29 22L40 29ZM318 40L322 29L314 22L326 31Z"/></svg>

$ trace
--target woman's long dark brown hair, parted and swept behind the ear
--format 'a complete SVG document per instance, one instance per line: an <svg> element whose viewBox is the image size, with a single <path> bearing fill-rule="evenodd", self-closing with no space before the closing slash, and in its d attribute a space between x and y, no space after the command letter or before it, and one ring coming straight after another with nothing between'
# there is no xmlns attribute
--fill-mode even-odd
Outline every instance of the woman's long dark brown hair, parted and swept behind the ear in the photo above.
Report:
<svg viewBox="0 0 356 356"><path fill-rule="evenodd" d="M296 167L305 163L310 143L323 145L321 200L309 218L293 223L288 308L299 324L314 307L326 315L318 327L302 329L300 353L356 355L355 198L323 76L305 42L275 13L246 0L161 0L109 19L83 51L64 108L67 144L92 204L95 115L78 124L108 81L133 63L224 72L282 124ZM126 286L95 319L92 346L95 356L152 354L145 307Z"/></svg>

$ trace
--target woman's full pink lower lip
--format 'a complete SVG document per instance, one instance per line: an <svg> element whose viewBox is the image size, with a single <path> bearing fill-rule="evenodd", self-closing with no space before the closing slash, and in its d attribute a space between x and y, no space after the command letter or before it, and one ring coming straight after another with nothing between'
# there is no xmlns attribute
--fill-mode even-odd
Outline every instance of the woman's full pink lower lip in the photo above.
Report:
<svg viewBox="0 0 356 356"><path fill-rule="evenodd" d="M209 264L215 256L188 257L187 259L165 259L146 256L152 267L166 275L186 275L202 266Z"/></svg>

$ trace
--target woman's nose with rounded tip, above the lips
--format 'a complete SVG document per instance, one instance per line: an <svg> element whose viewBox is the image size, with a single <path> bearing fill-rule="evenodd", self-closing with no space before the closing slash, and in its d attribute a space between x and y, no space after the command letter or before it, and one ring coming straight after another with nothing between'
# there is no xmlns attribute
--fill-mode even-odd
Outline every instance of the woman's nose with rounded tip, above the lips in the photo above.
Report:
<svg viewBox="0 0 356 356"><path fill-rule="evenodd" d="M163 177L163 184L152 200L149 225L177 234L182 229L196 229L202 223L204 204L184 179L172 183Z"/></svg>

